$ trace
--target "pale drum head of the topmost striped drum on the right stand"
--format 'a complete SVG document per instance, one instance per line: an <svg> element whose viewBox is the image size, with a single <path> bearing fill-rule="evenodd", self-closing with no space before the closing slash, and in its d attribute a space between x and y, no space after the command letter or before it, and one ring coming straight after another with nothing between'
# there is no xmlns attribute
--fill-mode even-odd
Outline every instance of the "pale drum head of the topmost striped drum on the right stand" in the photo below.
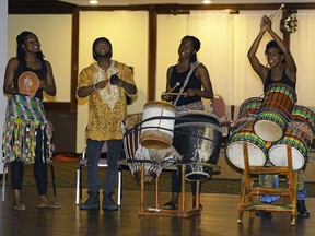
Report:
<svg viewBox="0 0 315 236"><path fill-rule="evenodd" d="M267 142L276 142L283 137L282 128L270 120L258 120L254 125L255 133Z"/></svg>

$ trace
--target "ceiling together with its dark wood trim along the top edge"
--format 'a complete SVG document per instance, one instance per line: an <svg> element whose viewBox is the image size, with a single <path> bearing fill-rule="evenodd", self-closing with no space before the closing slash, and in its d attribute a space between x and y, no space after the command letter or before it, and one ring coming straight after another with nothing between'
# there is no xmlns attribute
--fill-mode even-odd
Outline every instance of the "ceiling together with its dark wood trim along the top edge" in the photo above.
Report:
<svg viewBox="0 0 315 236"><path fill-rule="evenodd" d="M0 0L2 1L2 0ZM9 14L71 14L77 7L82 10L154 10L160 14L186 14L190 10L276 10L283 3L287 10L315 9L315 0L212 0L205 5L202 0L98 0L97 5L89 0L8 0ZM152 7L154 5L154 7Z"/></svg>

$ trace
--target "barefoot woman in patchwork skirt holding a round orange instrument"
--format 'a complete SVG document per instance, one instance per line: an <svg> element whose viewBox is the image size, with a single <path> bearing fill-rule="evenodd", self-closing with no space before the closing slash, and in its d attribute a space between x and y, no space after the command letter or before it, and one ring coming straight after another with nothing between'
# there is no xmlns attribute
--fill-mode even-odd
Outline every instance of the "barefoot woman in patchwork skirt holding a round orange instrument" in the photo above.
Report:
<svg viewBox="0 0 315 236"><path fill-rule="evenodd" d="M46 119L43 105L43 91L50 96L56 95L52 69L44 60L40 43L34 33L22 32L16 43L16 57L7 64L3 85L4 93L9 95L3 129L3 160L5 163L11 162L13 209L26 209L21 200L24 163L34 163L39 196L37 206L57 209L60 205L47 198L46 164L51 161L52 127Z"/></svg>

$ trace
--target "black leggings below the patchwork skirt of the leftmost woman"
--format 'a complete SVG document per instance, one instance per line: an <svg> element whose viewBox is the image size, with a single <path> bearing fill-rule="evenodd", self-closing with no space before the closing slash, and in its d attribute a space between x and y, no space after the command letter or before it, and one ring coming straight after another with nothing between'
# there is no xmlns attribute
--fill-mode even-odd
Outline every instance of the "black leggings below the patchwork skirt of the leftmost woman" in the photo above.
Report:
<svg viewBox="0 0 315 236"><path fill-rule="evenodd" d="M47 163L46 158L43 161L42 151L42 132L37 129L36 149L35 149L35 163L33 165L34 178L37 185L38 196L47 193ZM44 139L46 143L46 137ZM44 145L45 149L45 145ZM46 156L46 149L44 150L44 156ZM19 160L11 162L11 187L15 190L22 189L24 176L24 163Z"/></svg>

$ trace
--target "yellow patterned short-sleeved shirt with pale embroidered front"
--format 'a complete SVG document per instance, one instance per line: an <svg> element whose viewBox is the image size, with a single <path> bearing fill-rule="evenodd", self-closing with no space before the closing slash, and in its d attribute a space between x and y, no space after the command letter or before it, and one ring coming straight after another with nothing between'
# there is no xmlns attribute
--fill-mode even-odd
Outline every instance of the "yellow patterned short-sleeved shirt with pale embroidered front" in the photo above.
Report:
<svg viewBox="0 0 315 236"><path fill-rule="evenodd" d="M121 80L136 85L129 67L112 60L106 71L101 69L97 62L83 69L79 76L78 88L109 80L112 74L117 74ZM108 83L105 88L92 93L89 97L88 138L98 141L122 139L121 122L126 117L125 90Z"/></svg>

